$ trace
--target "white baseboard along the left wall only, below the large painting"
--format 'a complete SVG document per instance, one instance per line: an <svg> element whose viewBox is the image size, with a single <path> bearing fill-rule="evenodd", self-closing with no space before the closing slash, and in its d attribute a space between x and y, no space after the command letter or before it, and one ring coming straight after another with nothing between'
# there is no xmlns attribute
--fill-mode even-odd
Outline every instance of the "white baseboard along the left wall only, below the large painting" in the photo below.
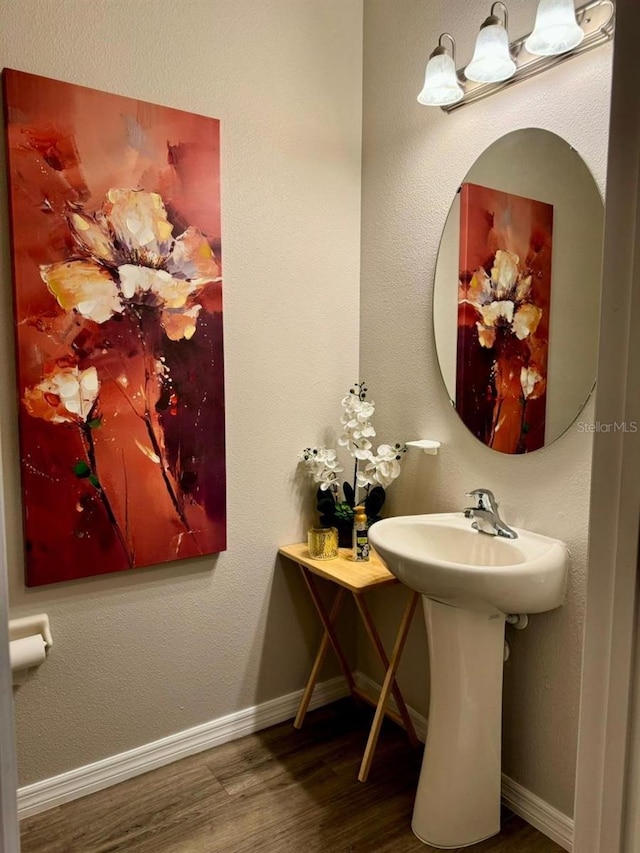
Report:
<svg viewBox="0 0 640 853"><path fill-rule="evenodd" d="M309 707L318 708L348 695L344 678L338 676L316 685ZM301 697L302 690L296 690L136 749L111 755L102 761L26 785L18 789L18 817L22 819L39 814L180 758L282 723L295 716Z"/></svg>

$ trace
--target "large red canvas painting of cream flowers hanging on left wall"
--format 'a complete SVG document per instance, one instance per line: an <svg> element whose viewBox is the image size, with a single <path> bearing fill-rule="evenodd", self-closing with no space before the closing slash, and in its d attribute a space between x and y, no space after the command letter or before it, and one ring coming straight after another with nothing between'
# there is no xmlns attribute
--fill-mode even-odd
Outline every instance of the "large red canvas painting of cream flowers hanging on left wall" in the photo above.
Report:
<svg viewBox="0 0 640 853"><path fill-rule="evenodd" d="M224 550L219 122L4 88L27 585Z"/></svg>

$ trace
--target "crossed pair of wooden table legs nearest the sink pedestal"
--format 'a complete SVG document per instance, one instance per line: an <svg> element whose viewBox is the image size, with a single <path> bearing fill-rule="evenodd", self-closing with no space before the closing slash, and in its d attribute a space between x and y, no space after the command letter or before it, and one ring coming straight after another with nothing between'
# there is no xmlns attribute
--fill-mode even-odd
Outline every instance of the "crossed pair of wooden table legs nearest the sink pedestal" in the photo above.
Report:
<svg viewBox="0 0 640 853"><path fill-rule="evenodd" d="M371 616L369 614L369 610L365 605L364 601L358 601L360 596L355 596L356 601L358 603L358 609L360 610L360 614L362 615L362 619L367 628L367 633L369 634L373 644L378 649L378 654L380 655L380 659L383 661L386 659L386 653L384 648L382 647L382 643L380 641L380 637L378 636L378 632L375 629L373 622L371 621ZM373 717L373 723L371 725L371 731L369 732L369 739L367 740L367 746L364 751L364 756L362 758L362 764L360 765L360 772L358 773L358 780L360 782L366 782L367 777L369 775L369 770L371 768L371 762L373 761L373 753L376 748L376 744L378 742L378 736L380 735L380 728L382 727L382 721L384 719L384 711L387 704L387 700L389 698L389 693L393 690L394 698L398 705L398 710L402 716L402 719L405 723L407 733L409 734L409 738L411 743L416 746L418 743L418 738L416 736L415 729L413 727L413 722L411 721L411 717L409 716L409 712L407 710L407 706L405 705L404 699L402 698L402 693L400 692L400 688L396 684L396 671L398 669L398 664L400 663L400 658L402 656L402 650L404 649L404 644L407 639L407 634L409 633L409 626L411 625L411 620L413 619L413 614L416 609L416 605L418 603L419 594L414 592L411 594L409 601L407 602L407 606L405 607L404 614L402 616L402 621L400 622L400 627L398 628L398 634L396 636L396 641L393 647L393 652L391 654L391 660L388 661L387 672L384 677L384 681L382 684L382 690L380 691L380 698L378 700L378 706L376 708L375 715ZM362 607L361 607L362 606ZM366 614L366 615L365 615ZM397 691L397 692L396 692Z"/></svg>

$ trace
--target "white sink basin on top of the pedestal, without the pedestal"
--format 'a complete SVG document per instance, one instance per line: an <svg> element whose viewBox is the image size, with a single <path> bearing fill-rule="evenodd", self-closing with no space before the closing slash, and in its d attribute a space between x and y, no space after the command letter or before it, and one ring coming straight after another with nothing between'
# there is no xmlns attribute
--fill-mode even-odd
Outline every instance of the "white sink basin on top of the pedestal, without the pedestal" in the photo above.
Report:
<svg viewBox="0 0 640 853"><path fill-rule="evenodd" d="M516 528L517 539L473 530L463 513L406 515L372 525L369 539L411 589L454 607L542 613L562 604L563 542Z"/></svg>

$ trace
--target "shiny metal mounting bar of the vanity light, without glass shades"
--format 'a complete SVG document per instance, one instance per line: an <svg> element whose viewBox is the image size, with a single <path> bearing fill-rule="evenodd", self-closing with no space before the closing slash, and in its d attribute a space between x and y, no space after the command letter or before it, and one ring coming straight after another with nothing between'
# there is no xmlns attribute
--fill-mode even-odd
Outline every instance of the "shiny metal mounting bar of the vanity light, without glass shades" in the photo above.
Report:
<svg viewBox="0 0 640 853"><path fill-rule="evenodd" d="M509 51L516 63L516 71L512 77L500 83L473 83L465 77L464 68L458 68L456 74L464 89L464 97L456 103L442 106L441 109L448 113L453 112L466 104L487 98L494 92L535 77L547 68L553 68L573 56L611 41L615 29L615 4L613 0L589 0L588 3L576 9L576 21L584 32L584 38L566 53L556 56L534 56L525 48L525 42L532 33L527 33L522 38L511 42Z"/></svg>

